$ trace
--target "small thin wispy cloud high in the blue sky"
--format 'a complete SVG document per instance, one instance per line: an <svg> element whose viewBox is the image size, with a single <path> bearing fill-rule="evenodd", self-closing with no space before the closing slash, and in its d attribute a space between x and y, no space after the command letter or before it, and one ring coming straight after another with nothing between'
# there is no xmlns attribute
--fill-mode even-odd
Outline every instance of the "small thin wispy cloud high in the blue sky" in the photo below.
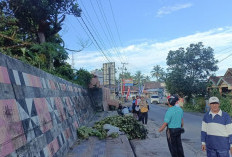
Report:
<svg viewBox="0 0 232 157"><path fill-rule="evenodd" d="M191 3L186 3L186 4L177 4L174 6L167 6L167 7L162 7L158 10L157 12L157 16L161 17L162 15L167 15L167 14L171 14L172 12L181 10L181 9L185 9L185 8L189 8L193 6L193 4Z"/></svg>

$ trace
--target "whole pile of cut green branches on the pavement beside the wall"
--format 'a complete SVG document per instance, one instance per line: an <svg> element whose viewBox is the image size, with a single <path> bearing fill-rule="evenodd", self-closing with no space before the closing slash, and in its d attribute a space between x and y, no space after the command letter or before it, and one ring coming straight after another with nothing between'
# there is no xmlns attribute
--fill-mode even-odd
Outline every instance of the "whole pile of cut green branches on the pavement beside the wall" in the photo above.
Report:
<svg viewBox="0 0 232 157"><path fill-rule="evenodd" d="M89 136L97 136L99 139L104 139L107 137L107 131L103 129L104 124L111 124L124 132L129 140L132 139L145 139L147 137L147 129L139 124L132 116L112 116L107 117L99 122L96 122L93 128L90 127L80 127L77 130L78 136L82 139L86 139ZM112 134L111 137L117 137L118 134Z"/></svg>

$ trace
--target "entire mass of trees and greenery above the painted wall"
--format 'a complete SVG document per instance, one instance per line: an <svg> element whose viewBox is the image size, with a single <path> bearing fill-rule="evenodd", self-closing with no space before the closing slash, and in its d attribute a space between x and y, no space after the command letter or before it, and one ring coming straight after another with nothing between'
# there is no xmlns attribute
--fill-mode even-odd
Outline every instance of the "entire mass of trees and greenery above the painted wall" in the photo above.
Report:
<svg viewBox="0 0 232 157"><path fill-rule="evenodd" d="M1 0L0 51L88 87L91 74L85 70L74 72L66 62L68 53L58 34L65 15L79 17L80 13L75 0Z"/></svg>

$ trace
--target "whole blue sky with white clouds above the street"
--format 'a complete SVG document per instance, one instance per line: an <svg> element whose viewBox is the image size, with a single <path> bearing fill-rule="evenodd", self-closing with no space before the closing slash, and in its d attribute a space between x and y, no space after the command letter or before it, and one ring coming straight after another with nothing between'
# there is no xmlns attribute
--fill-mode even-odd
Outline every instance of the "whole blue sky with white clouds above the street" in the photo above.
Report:
<svg viewBox="0 0 232 157"><path fill-rule="evenodd" d="M81 17L67 16L60 32L75 69L125 64L150 76L166 69L170 50L192 43L214 49L216 75L232 68L232 0L78 0ZM83 48L84 47L84 48ZM119 69L118 69L119 70Z"/></svg>

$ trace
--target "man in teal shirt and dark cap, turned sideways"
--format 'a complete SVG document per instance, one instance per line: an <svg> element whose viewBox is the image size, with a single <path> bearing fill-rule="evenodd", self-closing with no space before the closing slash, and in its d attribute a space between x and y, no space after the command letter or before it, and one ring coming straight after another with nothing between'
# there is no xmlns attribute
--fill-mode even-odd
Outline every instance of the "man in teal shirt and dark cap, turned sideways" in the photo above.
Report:
<svg viewBox="0 0 232 157"><path fill-rule="evenodd" d="M168 148L172 157L184 157L184 151L181 142L181 127L183 127L183 110L177 107L178 97L176 95L170 96L168 99L169 109L167 110L164 123L159 128L159 132L163 131L166 126L166 135L168 141Z"/></svg>

